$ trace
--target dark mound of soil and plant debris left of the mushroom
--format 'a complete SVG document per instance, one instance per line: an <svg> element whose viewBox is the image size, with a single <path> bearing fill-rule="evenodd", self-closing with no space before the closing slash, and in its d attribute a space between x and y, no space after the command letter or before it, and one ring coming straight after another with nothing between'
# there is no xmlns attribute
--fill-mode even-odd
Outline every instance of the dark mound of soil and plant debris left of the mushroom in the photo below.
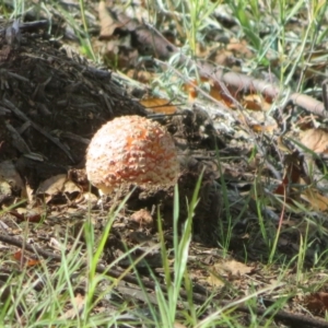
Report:
<svg viewBox="0 0 328 328"><path fill-rule="evenodd" d="M49 174L39 168L31 185L51 176L51 169L83 165L89 139L107 120L145 115L110 72L90 66L42 31L19 34L9 44L4 37L9 28L2 30L1 39L0 105L5 112L0 121L0 161L39 154ZM8 125L19 131L25 147Z"/></svg>

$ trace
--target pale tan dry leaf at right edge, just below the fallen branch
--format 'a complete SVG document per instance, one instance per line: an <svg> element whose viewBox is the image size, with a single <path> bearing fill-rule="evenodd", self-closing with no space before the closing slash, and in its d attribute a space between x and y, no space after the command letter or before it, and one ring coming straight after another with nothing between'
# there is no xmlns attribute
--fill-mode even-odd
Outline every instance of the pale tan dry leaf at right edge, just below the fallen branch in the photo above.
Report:
<svg viewBox="0 0 328 328"><path fill-rule="evenodd" d="M309 129L301 132L301 142L316 153L328 153L328 130Z"/></svg>

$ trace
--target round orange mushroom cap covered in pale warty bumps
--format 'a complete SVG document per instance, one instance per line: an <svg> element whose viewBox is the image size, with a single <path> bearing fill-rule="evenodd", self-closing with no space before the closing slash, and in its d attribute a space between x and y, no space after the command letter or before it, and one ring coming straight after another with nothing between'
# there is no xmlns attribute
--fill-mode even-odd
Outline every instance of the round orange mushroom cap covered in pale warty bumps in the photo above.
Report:
<svg viewBox="0 0 328 328"><path fill-rule="evenodd" d="M172 136L159 122L117 117L94 134L86 151L86 175L101 194L122 184L174 185L179 173Z"/></svg>

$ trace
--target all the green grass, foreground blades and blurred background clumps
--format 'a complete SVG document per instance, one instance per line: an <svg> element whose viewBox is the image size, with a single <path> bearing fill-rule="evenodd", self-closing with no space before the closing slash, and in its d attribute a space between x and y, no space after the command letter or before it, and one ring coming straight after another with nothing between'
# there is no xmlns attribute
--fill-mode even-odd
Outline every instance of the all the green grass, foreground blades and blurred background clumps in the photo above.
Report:
<svg viewBox="0 0 328 328"><path fill-rule="evenodd" d="M326 1L267 1L267 7L262 8L258 1L227 0L224 1L231 15L238 24L237 32L232 32L227 27L221 27L215 19L215 10L220 1L210 0L179 0L179 1L161 1L162 15L153 14L152 23L156 26L161 23L163 26L169 26L172 23L176 30L177 38L180 43L181 50L197 58L199 56L198 46L200 44L211 43L207 38L210 27L222 28L230 36L237 39L247 40L247 47L253 52L253 58L244 59L244 66L241 68L243 73L254 74L271 70L278 79L282 89L292 86L295 91L312 93L313 86L307 85L307 71L318 74L318 69L312 65L312 56L315 50L319 49L320 44L327 45L328 24L325 13L328 3ZM60 12L77 32L80 46L83 52L94 61L98 60L98 54L93 49L93 40L89 33L86 20L86 1L80 0L81 22L71 16L68 11L60 9ZM25 1L14 1L12 11L1 7L3 14L9 17L17 17L25 13ZM56 2L43 3L45 9L56 5ZM150 12L155 11L155 1L147 1ZM128 5L127 5L128 7ZM7 11L5 11L7 10ZM39 7L42 10L42 5ZM9 14L10 13L10 14ZM293 20L300 22L305 15L306 25L302 25L295 32L290 24ZM270 31L266 31L263 25L269 22ZM303 22L303 21L302 21ZM156 26L159 30L161 26ZM229 30L229 31L227 31ZM262 36L265 35L265 36ZM327 55L325 55L327 59ZM198 71L195 67L181 67L177 65L177 58L171 58L168 65L171 69L164 72L157 72L156 78L151 82L154 93L165 94L180 103L186 102L186 94L183 85L186 80L200 81ZM274 65L276 62L276 65ZM186 80L175 72L178 71ZM176 79L173 83L173 78ZM200 83L200 87L203 87ZM208 101L196 99L208 110L212 109L215 104ZM256 160L257 152L248 154L248 164ZM233 159L233 163L238 163L238 159ZM176 323L186 327L270 327L273 325L273 314L290 304L291 300L300 296L320 291L327 278L321 281L318 277L327 277L327 250L325 245L320 247L323 239L327 238L327 231L316 221L316 215L301 202L291 206L286 199L272 192L273 183L267 180L263 183L262 175L265 169L258 169L253 179L253 190L245 197L245 202L238 213L233 211L234 203L230 197L231 185L226 180L224 169L230 164L220 151L216 150L216 162L220 177L216 183L221 186L221 196L225 209L223 219L218 218L220 225L220 236L218 237L218 249L220 249L220 260L229 261L232 256L236 256L238 261L245 265L256 265L260 268L257 278L241 276L238 273L226 274L229 279L237 284L234 286L225 277L225 284L220 289L222 298L231 300L229 304L220 305L220 301L214 300L216 293L213 288L213 295L209 295L202 304L195 300L195 272L190 266L190 245L192 234L192 218L199 201L199 191L201 188L200 176L198 184L195 186L195 192L187 206L187 218L180 218L180 207L178 189L175 188L173 219L173 244L167 246L165 231L163 230L163 218L157 212L157 231L159 244L162 255L162 276L148 266L148 277L154 283L154 291L150 292L144 285L144 276L140 273L138 265L143 262L147 255L151 254L154 248L150 247L145 254L136 259L133 257L136 248L129 249L126 245L124 255L113 261L106 270L115 268L119 261L129 259L129 266L122 271L119 278L113 278L101 274L97 266L104 257L106 243L113 223L117 220L128 197L108 213L107 224L99 237L94 233L94 223L91 213L85 213L85 223L83 226L84 243L79 238L73 244L69 243L69 235L60 245L61 261L60 266L51 266L51 261L40 261L36 268L22 267L20 274L13 272L1 285L0 293L5 295L9 286L12 289L8 296L3 296L0 309L1 327L117 327L126 325L129 327L139 326L144 323L148 327L174 327ZM241 163L239 163L241 164ZM277 166L281 163L276 163ZM242 164L241 164L242 166ZM281 166L280 166L281 167ZM280 169L278 167L277 169ZM269 190L265 190L265 189ZM271 188L271 189L270 189ZM265 191L263 191L265 190ZM236 236L235 230L244 220L244 214L255 203L256 221L249 221L249 230L245 235ZM263 209L269 208L274 211L279 210L278 222L269 221L265 215ZM326 215L326 213L320 213ZM284 227L284 223L290 219L298 220L297 224L290 229ZM180 229L179 222L185 219ZM242 222L243 223L243 222ZM301 227L304 223L305 229ZM47 224L46 222L43 224ZM251 231L251 225L254 231ZM316 233L311 229L315 227ZM250 236L247 236L247 234ZM81 231L82 234L82 231ZM24 236L27 238L27 236ZM248 239L247 239L248 238ZM284 248L283 241L297 247L296 250L281 251ZM234 241L241 244L234 248ZM243 241L243 242L241 242ZM260 249L257 249L260 248ZM291 247L291 246L290 246ZM70 251L66 250L70 248ZM194 256L194 255L192 255ZM218 260L218 258L215 258ZM218 260L219 261L219 260ZM1 257L0 262L7 266L11 262L9 258ZM85 265L86 263L86 265ZM210 270L209 265L207 270ZM197 268L199 269L199 268ZM133 273L139 282L140 293L143 301L124 297L119 288L125 281L128 273ZM278 273L277 273L278 272ZM194 274L194 276L192 276ZM218 273L218 280L223 278L223 273ZM224 273L225 274L225 273ZM320 276L321 274L321 276ZM201 276L201 274L200 274ZM272 278L273 277L273 278ZM197 277L200 278L200 277ZM202 277L203 278L203 277ZM254 279L254 280L253 280ZM37 289L36 282L42 288ZM163 289L163 283L165 289ZM79 284L83 288L79 289ZM99 285L105 285L99 290ZM83 292L82 292L82 291ZM219 290L219 289L218 289ZM181 296L181 291L185 296ZM82 294L82 300L79 298ZM254 309L261 304L262 298L270 298L271 303L267 306L267 316L258 315ZM104 301L107 300L107 303ZM109 301L108 301L109 300ZM103 305L102 303L106 303ZM110 306L108 306L108 304ZM249 309L247 317L235 311L241 304L246 304ZM102 306L110 308L110 313L102 311ZM297 301L293 306L300 311ZM209 308L212 307L210 311ZM72 308L72 316L67 317L68 309ZM301 312L301 311L300 311Z"/></svg>

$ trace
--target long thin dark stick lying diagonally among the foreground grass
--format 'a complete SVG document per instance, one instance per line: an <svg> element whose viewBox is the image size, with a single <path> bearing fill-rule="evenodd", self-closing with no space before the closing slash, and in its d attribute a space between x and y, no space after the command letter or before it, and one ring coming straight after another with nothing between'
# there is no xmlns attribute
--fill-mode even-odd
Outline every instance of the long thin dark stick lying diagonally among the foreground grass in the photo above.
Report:
<svg viewBox="0 0 328 328"><path fill-rule="evenodd" d="M23 242L19 241L15 237L9 236L9 235L0 234L0 242L16 246L20 248L25 247L25 250L32 251L32 253L36 254L37 256L42 256L43 258L46 258L46 259L52 259L58 262L61 261L61 257L59 255L44 250L42 248L38 248L38 247L27 244L27 243L23 244ZM83 268L87 267L87 263L84 262L82 265L82 267ZM104 266L98 265L96 267L96 272L106 274L106 276L109 276L113 278L121 279L126 282L139 285L139 280L137 278L134 278L132 274L126 274L124 271L120 271L120 270L107 269ZM166 285L164 285L164 284L159 284L159 283L154 283L152 281L147 281L147 280L142 281L142 283L147 289L154 290L156 286L160 285L163 292L167 291ZM203 294L192 293L192 300L196 303L203 304L203 303L208 302L208 298L210 297L209 294L207 294L206 292ZM188 293L185 291L180 291L180 296L185 300L188 300ZM231 304L230 301L220 300L219 295L213 296L212 300L219 301L221 306L227 306ZM245 306L245 305L235 306L235 311L246 313L246 314L250 314L250 312L251 312L251 313L256 313L258 316L273 317L277 320L281 320L281 321L288 324L292 328L309 328L309 327L328 328L327 321L324 321L321 319L306 317L304 315L291 314L291 313L288 313L284 311L279 311L276 314L272 314L272 313L268 313L268 311L266 308L259 308L259 307L250 308L249 306Z"/></svg>

